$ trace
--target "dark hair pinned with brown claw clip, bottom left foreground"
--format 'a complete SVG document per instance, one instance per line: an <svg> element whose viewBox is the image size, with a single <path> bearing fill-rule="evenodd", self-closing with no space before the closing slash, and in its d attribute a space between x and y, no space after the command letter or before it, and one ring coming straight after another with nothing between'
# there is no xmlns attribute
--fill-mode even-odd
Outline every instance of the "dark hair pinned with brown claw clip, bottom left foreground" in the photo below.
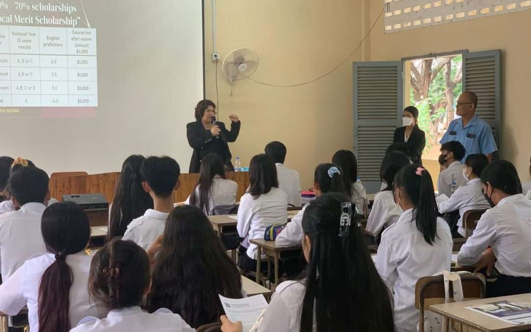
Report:
<svg viewBox="0 0 531 332"><path fill-rule="evenodd" d="M140 305L149 282L148 254L133 241L111 240L90 263L89 294L109 310Z"/></svg>

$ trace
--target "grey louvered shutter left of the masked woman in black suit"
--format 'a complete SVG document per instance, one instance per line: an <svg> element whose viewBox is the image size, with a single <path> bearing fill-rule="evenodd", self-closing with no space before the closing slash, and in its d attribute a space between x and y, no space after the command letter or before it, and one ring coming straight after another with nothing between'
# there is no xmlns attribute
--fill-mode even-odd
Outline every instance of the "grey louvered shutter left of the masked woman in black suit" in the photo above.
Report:
<svg viewBox="0 0 531 332"><path fill-rule="evenodd" d="M380 189L380 164L402 117L402 62L355 62L354 154L367 192Z"/></svg>

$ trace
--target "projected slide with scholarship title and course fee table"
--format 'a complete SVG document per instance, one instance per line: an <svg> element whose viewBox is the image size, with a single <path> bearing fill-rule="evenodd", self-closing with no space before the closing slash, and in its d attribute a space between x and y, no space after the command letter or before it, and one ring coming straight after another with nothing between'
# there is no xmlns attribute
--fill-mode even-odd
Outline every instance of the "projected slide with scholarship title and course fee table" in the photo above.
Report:
<svg viewBox="0 0 531 332"><path fill-rule="evenodd" d="M0 114L98 106L96 29L79 27L88 24L82 12L58 2L0 1Z"/></svg>

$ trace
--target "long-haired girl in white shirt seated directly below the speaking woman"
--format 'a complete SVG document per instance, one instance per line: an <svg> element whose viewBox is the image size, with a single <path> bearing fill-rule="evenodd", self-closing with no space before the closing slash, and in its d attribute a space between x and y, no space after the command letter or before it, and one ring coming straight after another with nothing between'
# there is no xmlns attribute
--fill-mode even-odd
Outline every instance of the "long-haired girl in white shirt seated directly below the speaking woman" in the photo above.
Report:
<svg viewBox="0 0 531 332"><path fill-rule="evenodd" d="M199 181L186 204L195 205L211 215L218 205L236 203L238 184L225 177L225 165L218 154L208 154L201 160Z"/></svg>

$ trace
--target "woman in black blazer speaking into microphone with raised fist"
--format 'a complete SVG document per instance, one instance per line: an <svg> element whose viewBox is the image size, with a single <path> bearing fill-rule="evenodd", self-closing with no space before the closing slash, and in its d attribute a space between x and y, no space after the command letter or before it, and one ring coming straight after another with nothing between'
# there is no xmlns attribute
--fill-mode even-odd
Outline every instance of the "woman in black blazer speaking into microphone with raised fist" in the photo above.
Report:
<svg viewBox="0 0 531 332"><path fill-rule="evenodd" d="M201 160L208 154L219 155L226 169L234 171L228 142L235 142L238 138L241 122L237 115L230 114L229 118L232 122L230 131L224 123L216 121L216 104L212 101L201 100L195 106L196 121L186 125L186 137L194 149L190 160L190 173L199 173Z"/></svg>

